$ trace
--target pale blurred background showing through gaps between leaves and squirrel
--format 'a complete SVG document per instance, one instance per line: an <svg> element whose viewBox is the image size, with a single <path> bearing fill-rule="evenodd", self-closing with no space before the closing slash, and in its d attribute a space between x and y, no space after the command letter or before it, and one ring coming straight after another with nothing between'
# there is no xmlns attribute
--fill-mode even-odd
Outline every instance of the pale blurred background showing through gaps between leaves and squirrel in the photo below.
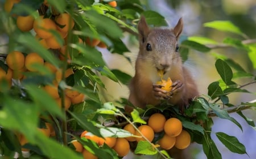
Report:
<svg viewBox="0 0 256 159"><path fill-rule="evenodd" d="M166 18L166 21L170 27L174 27L180 17L184 21L184 29L181 35L186 36L204 36L212 38L218 42L222 42L225 37L234 37L240 40L244 40L242 37L238 37L232 33L226 33L217 31L211 28L203 27L203 23L212 22L214 20L230 20L237 25L243 33L249 38L256 38L256 1L255 0L217 0L217 1L188 1L188 0L176 0L176 1L141 1L144 4L146 10L154 10L159 12ZM127 74L134 75L134 62L138 53L138 41L135 38L131 38L126 35L123 38L126 42L127 48L130 49L129 53L125 55L130 57L131 63L122 55L111 54L102 49L106 63L110 68L118 68L119 70L126 72ZM256 70L247 57L247 53L242 49L234 48L220 48L213 49L210 53L201 53L199 51L189 51L189 58L184 62L184 65L189 68L193 74L193 78L196 80L197 87L200 94L208 93L208 85L213 81L219 80L214 63L216 57L214 54L225 54L227 57L232 58L235 62L239 63L246 71L255 75ZM255 59L256 60L256 59ZM238 84L245 84L251 79L235 80ZM118 100L120 97L127 98L129 95L129 89L122 84L114 83L108 79L105 79L106 84L106 97L108 101ZM255 92L256 85L249 85L245 89ZM241 102L252 101L256 99L255 94L249 93L234 93L230 97L230 103L241 104ZM256 113L253 110L244 110L243 113L246 117L256 119ZM250 127L244 119L242 119L236 113L230 114L242 124L243 132L234 123L220 118L213 118L214 126L212 127L212 139L215 141L217 148L222 154L222 158L225 159L238 159L238 158L256 158L256 131L253 127ZM223 145L214 135L216 132L225 132L230 136L236 136L240 142L246 147L246 154L236 154L230 152L225 145ZM201 145L193 143L186 149L192 158L206 158ZM129 154L128 158L158 158L158 156L133 156Z"/></svg>

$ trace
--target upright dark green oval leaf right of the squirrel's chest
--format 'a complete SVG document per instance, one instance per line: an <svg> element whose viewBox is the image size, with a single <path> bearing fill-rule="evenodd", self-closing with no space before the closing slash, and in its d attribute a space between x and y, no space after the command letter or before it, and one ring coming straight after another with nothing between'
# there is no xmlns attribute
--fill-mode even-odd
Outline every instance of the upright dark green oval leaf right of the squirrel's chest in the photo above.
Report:
<svg viewBox="0 0 256 159"><path fill-rule="evenodd" d="M215 67L218 74L221 76L221 79L225 82L225 84L229 85L232 82L233 72L228 64L222 59L217 59L215 62Z"/></svg>

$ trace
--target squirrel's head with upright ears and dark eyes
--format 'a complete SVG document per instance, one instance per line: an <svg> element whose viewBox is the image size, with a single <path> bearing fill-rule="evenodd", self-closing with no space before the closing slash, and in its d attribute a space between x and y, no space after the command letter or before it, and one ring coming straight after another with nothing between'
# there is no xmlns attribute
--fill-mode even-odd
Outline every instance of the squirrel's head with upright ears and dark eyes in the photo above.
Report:
<svg viewBox="0 0 256 159"><path fill-rule="evenodd" d="M182 29L182 18L173 29L151 29L142 16L138 23L139 58L152 62L151 64L157 70L164 70L164 72L170 70L175 63L180 63L177 40Z"/></svg>

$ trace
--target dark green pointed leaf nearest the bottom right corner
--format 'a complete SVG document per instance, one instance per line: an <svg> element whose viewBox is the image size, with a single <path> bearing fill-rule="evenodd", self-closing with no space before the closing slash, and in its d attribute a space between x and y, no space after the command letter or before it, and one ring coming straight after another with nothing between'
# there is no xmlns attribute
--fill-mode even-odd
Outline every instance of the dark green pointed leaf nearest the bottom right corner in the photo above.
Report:
<svg viewBox="0 0 256 159"><path fill-rule="evenodd" d="M246 149L240 141L237 140L235 136L229 136L224 132L216 132L216 136L221 141L222 144L225 145L231 152L238 153L238 154L245 154Z"/></svg>

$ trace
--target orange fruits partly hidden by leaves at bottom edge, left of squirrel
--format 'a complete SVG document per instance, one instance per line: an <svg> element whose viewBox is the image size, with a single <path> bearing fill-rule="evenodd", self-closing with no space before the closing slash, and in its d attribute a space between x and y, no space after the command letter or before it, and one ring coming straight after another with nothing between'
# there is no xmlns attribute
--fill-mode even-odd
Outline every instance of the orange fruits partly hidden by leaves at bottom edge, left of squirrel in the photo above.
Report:
<svg viewBox="0 0 256 159"><path fill-rule="evenodd" d="M115 152L117 152L119 157L126 156L127 153L130 151L130 145L128 141L125 138L119 138L119 137L98 137L96 135L93 135L92 133L88 131L82 132L80 135L81 138L85 137L86 139L94 141L99 147L102 147L104 144L108 145L110 148L112 148ZM76 148L77 152L82 153L82 156L84 158L90 158L90 159L97 159L98 157L87 151L82 147L82 144L79 143L77 140L71 141L71 143Z"/></svg>

